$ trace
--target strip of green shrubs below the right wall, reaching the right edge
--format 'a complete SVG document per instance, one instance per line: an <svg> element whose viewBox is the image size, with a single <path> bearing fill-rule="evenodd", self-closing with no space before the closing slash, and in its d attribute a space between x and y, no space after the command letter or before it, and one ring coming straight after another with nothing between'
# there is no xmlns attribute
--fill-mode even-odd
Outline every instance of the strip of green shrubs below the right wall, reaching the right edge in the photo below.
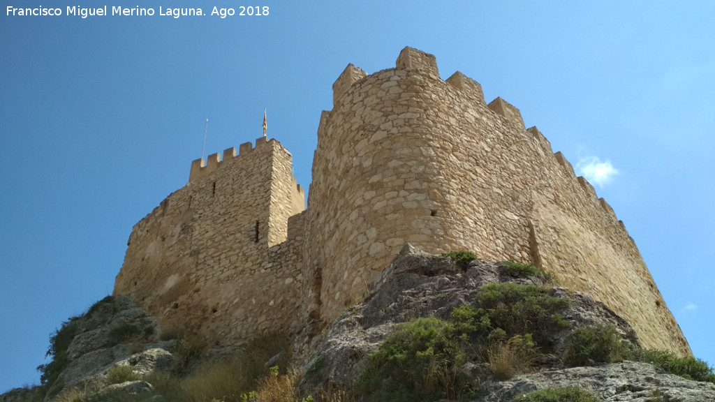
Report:
<svg viewBox="0 0 715 402"><path fill-rule="evenodd" d="M668 373L695 381L715 383L715 373L705 361L680 357L666 350L640 349L623 340L613 325L576 328L568 336L564 361L569 366L630 360L651 363Z"/></svg>

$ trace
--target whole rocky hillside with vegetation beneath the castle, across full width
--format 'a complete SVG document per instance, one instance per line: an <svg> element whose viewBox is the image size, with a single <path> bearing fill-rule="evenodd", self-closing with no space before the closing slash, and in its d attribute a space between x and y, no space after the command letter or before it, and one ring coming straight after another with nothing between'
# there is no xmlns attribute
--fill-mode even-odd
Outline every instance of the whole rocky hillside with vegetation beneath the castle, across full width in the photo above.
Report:
<svg viewBox="0 0 715 402"><path fill-rule="evenodd" d="M428 255L405 245L363 297L317 333L298 350L275 334L245 350L199 347L180 330L158 328L134 300L110 297L53 335L44 386L0 402L285 401L269 398L274 393L261 391L267 383L255 379L276 365L297 369L267 378L272 386L285 378L288 399L299 402L335 390L341 402L715 401L704 362L641 350L631 326L603 303L559 288L531 265L470 253ZM217 383L231 390L216 391Z"/></svg>

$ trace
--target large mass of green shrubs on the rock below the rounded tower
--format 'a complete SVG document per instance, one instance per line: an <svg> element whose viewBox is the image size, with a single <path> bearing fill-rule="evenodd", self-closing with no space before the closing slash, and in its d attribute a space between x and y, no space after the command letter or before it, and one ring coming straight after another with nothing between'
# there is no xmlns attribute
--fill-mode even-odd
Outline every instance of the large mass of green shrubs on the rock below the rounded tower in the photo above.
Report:
<svg viewBox="0 0 715 402"><path fill-rule="evenodd" d="M529 371L570 324L558 314L568 299L536 285L485 285L475 305L448 320L418 318L390 335L370 355L358 381L369 401L428 401L468 397L476 390L460 371L466 361L489 364L496 378ZM486 346L485 346L486 345Z"/></svg>

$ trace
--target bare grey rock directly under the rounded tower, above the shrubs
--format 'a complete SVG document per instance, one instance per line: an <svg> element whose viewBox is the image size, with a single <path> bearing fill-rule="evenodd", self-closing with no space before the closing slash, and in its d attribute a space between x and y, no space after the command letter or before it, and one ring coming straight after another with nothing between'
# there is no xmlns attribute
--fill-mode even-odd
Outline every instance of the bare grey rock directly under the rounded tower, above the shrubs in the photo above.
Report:
<svg viewBox="0 0 715 402"><path fill-rule="evenodd" d="M447 319L460 305L473 304L483 285L503 282L543 285L544 280L512 277L500 264L483 260L459 268L450 258L405 245L370 286L368 300L350 306L332 324L305 363L304 386L350 386L363 372L365 357L377 350L400 323L430 316ZM572 307L563 316L574 326L612 324L624 338L638 344L631 326L603 303L562 288L553 288L551 293L571 299ZM566 333L558 335L556 349L563 350Z"/></svg>

